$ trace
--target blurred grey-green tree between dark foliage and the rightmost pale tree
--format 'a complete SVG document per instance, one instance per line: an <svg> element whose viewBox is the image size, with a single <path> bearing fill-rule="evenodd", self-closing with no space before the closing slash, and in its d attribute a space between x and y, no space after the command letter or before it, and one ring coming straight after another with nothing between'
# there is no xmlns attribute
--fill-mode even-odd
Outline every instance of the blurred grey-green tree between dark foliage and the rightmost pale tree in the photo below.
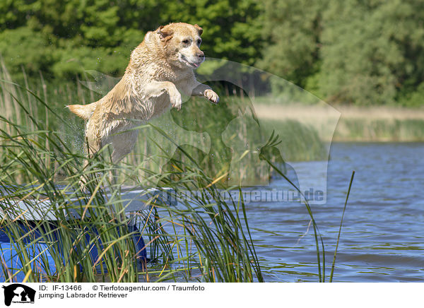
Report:
<svg viewBox="0 0 424 308"><path fill-rule="evenodd" d="M266 0L262 34L266 46L258 65L305 87L319 69L322 11L327 0Z"/></svg>

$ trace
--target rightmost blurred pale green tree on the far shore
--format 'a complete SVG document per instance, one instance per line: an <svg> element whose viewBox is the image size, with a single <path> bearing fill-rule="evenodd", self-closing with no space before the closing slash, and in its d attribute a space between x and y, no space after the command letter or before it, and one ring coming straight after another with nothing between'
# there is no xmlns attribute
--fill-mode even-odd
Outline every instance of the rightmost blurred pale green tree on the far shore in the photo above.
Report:
<svg viewBox="0 0 424 308"><path fill-rule="evenodd" d="M331 0L324 13L319 89L334 102L386 104L424 73L419 1Z"/></svg>

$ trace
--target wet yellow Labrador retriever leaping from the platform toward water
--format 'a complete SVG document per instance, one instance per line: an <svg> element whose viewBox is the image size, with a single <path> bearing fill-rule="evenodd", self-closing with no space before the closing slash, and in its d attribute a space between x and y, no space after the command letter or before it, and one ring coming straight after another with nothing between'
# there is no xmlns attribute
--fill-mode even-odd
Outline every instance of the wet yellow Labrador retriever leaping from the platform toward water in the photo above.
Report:
<svg viewBox="0 0 424 308"><path fill-rule="evenodd" d="M196 81L193 70L204 61L199 47L199 25L170 23L147 32L131 52L121 81L105 97L88 105L69 105L71 112L88 120L86 137L90 153L112 145L112 162L117 163L134 148L137 124L147 121L168 106L181 108L183 95L204 96L213 103L219 97ZM120 133L120 134L117 134Z"/></svg>

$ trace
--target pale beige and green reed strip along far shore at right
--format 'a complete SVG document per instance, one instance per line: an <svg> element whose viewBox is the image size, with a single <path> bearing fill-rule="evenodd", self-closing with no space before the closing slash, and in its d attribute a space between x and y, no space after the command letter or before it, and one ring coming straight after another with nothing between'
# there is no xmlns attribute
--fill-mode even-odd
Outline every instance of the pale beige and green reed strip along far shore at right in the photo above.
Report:
<svg viewBox="0 0 424 308"><path fill-rule="evenodd" d="M265 104L263 101L262 99L261 102L253 102L261 122L276 124L287 120L297 120L315 129L324 142L424 141L424 108L282 105ZM339 119L338 116L340 116ZM332 136L334 124L336 127Z"/></svg>

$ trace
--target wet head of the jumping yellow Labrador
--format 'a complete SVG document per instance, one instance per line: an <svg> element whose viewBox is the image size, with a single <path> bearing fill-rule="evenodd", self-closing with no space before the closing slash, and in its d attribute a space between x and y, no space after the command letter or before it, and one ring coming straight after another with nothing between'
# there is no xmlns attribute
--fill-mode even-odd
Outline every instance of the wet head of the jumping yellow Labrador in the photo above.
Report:
<svg viewBox="0 0 424 308"><path fill-rule="evenodd" d="M163 45L168 63L181 69L196 69L205 59L200 50L202 32L199 25L170 23L161 25L155 35Z"/></svg>

